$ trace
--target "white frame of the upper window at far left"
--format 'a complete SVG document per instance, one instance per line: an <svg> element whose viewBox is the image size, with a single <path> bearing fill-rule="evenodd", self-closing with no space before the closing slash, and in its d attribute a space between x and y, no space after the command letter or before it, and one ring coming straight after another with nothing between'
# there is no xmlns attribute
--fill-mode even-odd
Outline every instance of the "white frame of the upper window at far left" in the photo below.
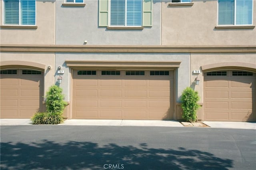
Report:
<svg viewBox="0 0 256 170"><path fill-rule="evenodd" d="M19 1L19 24L5 24L4 23L4 21L5 21L5 2L4 2L5 0L3 0L3 6L2 6L2 20L3 20L3 22L2 22L2 24L3 24L3 26L28 26L28 27L30 27L30 26L36 26L36 0L34 0L35 1L35 24L33 24L33 25L31 25L31 24L29 24L29 25L26 25L26 24L21 24L21 20L22 20L22 16L21 16L21 1L22 0L18 0Z"/></svg>

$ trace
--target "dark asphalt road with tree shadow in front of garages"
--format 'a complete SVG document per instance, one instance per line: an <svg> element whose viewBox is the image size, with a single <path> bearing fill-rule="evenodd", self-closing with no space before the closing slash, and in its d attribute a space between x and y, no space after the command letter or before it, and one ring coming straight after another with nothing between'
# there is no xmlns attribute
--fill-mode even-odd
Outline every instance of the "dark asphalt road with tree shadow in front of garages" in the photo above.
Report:
<svg viewBox="0 0 256 170"><path fill-rule="evenodd" d="M1 170L255 170L256 130L1 126Z"/></svg>

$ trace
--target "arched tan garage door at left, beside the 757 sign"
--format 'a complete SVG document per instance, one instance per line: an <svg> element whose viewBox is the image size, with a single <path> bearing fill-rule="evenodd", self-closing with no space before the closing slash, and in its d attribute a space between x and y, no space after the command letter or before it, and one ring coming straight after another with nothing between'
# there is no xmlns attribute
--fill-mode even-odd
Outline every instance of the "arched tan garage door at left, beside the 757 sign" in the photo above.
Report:
<svg viewBox="0 0 256 170"><path fill-rule="evenodd" d="M1 70L1 118L31 118L41 111L43 101L42 71Z"/></svg>

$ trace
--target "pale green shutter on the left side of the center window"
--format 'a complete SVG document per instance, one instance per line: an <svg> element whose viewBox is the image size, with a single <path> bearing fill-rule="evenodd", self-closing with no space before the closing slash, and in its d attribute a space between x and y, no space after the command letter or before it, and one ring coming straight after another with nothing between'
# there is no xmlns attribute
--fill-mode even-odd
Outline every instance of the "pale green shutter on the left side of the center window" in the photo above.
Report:
<svg viewBox="0 0 256 170"><path fill-rule="evenodd" d="M108 0L99 0L99 26L108 26Z"/></svg>

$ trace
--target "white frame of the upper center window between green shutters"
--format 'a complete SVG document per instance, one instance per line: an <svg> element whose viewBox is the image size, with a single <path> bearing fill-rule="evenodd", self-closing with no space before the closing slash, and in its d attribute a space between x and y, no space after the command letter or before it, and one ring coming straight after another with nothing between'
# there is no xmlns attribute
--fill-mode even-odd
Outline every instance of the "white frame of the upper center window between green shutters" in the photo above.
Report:
<svg viewBox="0 0 256 170"><path fill-rule="evenodd" d="M124 26L123 25L111 25L111 0L108 3L109 15L108 15L108 26L109 27L142 27L142 13L143 13L143 0L141 1L141 11L140 11L140 25L139 26L127 26L127 0L125 0L125 18L124 18Z"/></svg>

